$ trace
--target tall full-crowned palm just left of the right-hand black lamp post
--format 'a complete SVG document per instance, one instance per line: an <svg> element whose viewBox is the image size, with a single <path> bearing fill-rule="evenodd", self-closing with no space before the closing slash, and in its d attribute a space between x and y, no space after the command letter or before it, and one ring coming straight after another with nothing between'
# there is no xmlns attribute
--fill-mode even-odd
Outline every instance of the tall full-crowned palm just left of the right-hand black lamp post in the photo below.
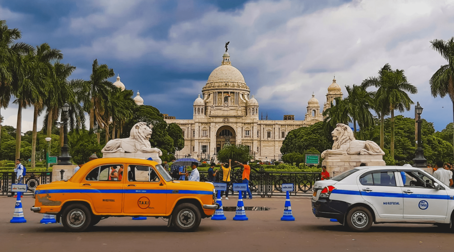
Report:
<svg viewBox="0 0 454 252"><path fill-rule="evenodd" d="M384 68L391 69L389 64L386 64ZM410 105L414 104L414 102L410 99L407 92L416 94L418 89L408 82L407 77L405 77L404 70L386 70L380 77L382 78L378 82L374 79L366 79L363 81L362 86L364 88L370 86L377 87L378 90L375 98L379 101L379 104L386 106L389 105L389 111L391 114L390 156L394 158L394 111L409 111ZM382 108L381 111L386 111L386 108Z"/></svg>

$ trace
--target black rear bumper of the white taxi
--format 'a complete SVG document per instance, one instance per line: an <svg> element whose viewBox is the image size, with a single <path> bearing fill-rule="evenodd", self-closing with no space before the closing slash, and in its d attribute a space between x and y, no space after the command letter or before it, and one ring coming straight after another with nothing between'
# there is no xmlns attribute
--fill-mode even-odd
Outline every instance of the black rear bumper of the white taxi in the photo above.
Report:
<svg viewBox="0 0 454 252"><path fill-rule="evenodd" d="M312 213L320 218L343 220L350 205L340 200L319 199L315 201L312 199Z"/></svg>

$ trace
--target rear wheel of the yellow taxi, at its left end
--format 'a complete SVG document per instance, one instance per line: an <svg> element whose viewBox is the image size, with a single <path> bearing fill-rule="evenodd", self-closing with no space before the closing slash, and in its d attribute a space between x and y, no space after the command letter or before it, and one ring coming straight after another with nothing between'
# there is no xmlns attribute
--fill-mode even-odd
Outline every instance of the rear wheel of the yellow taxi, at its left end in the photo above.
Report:
<svg viewBox="0 0 454 252"><path fill-rule="evenodd" d="M64 208L61 216L63 227L68 232L84 232L90 227L92 213L83 204L71 204Z"/></svg>

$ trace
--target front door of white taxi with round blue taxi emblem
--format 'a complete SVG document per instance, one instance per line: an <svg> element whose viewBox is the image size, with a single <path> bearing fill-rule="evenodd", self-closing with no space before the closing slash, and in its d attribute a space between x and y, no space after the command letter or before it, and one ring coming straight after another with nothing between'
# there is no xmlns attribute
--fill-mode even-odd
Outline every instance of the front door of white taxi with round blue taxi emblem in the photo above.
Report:
<svg viewBox="0 0 454 252"><path fill-rule="evenodd" d="M404 218L445 219L448 212L448 193L433 188L434 180L418 170L404 170L401 187L404 195ZM405 181L404 181L405 180Z"/></svg>

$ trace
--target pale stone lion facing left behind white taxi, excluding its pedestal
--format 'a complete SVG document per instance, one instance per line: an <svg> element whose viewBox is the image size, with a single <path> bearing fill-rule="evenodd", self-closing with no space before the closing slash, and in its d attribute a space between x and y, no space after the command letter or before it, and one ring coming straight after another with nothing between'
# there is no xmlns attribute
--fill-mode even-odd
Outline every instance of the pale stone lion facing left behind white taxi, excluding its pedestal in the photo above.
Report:
<svg viewBox="0 0 454 252"><path fill-rule="evenodd" d="M323 151L322 158L326 155L385 155L374 141L356 140L351 128L343 123L336 124L336 129L331 132L331 136L334 140L333 148Z"/></svg>

